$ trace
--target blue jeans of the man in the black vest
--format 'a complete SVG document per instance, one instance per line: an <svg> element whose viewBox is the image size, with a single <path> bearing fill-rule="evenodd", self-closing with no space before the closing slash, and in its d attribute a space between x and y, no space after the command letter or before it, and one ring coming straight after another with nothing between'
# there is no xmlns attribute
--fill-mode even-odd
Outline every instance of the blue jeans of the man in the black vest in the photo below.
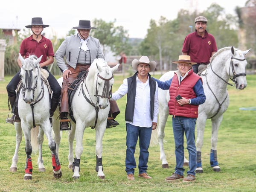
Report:
<svg viewBox="0 0 256 192"><path fill-rule="evenodd" d="M148 147L151 139L152 127L138 127L126 123L126 158L125 171L127 174L134 174L136 161L134 153L138 137L140 138L140 157L139 157L139 174L146 173L148 170Z"/></svg>

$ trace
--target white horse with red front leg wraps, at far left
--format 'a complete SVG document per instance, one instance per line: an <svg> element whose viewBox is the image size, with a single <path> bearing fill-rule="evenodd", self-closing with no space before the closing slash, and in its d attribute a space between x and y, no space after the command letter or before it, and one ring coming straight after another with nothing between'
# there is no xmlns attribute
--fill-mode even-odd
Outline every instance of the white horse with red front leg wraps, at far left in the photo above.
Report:
<svg viewBox="0 0 256 192"><path fill-rule="evenodd" d="M38 169L39 171L45 171L42 160L42 143L44 140L44 134L48 139L48 145L52 151L52 167L53 176L60 178L61 164L58 160L58 154L56 152L56 144L52 139L51 124L49 121L49 91L47 84L41 79L41 70L39 62L41 58L37 58L35 55L31 55L29 58L24 59L19 55L22 63L20 70L20 77L22 80L22 87L20 91L20 99L18 101L18 111L20 116L20 124L15 123L16 129L16 149L15 155L12 159L12 166L10 171L17 171L17 151L22 139L22 131L25 137L25 151L26 151L26 166L24 180L32 179L32 145L31 145L31 129L33 127L40 126L38 134L39 143L39 157L38 157ZM20 129L20 125L22 131Z"/></svg>

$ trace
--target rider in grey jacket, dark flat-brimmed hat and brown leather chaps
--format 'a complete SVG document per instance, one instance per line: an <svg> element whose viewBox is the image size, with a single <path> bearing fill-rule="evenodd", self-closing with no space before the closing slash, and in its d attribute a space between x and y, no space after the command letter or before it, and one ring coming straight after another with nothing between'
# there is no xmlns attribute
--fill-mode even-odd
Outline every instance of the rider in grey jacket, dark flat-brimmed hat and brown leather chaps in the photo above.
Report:
<svg viewBox="0 0 256 192"><path fill-rule="evenodd" d="M69 84L72 84L72 82L78 78L81 71L87 71L90 64L93 63L96 58L105 59L99 39L89 36L90 30L96 29L95 27L91 27L90 20L79 20L79 26L73 27L73 29L77 29L78 33L66 37L55 53L58 67L63 73L60 108L61 131L70 130L70 124L68 123L70 120L67 118L69 114L67 96ZM110 102L107 128L119 125L119 123L114 120L119 113L120 111L116 102Z"/></svg>

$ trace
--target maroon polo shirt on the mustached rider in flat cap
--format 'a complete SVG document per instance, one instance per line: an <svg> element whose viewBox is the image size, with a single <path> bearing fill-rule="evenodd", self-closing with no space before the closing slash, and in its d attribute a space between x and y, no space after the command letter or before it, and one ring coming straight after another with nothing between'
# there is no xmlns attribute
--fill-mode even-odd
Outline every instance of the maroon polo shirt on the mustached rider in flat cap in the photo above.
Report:
<svg viewBox="0 0 256 192"><path fill-rule="evenodd" d="M182 47L182 52L187 52L191 62L196 63L209 63L212 52L217 51L215 38L207 31L204 32L204 37L197 32L190 33L186 36Z"/></svg>

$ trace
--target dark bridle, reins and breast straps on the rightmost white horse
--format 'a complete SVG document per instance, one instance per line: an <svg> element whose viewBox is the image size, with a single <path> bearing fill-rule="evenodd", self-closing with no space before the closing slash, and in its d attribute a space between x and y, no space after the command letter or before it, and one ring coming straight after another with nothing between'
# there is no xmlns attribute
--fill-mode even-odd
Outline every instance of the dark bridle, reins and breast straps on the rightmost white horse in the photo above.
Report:
<svg viewBox="0 0 256 192"><path fill-rule="evenodd" d="M231 79L230 73L229 73L229 76L230 76L230 79L231 79L233 82L236 82L236 77L239 77L239 76L246 76L246 73L239 73L239 74L236 74L236 72L235 72L235 70L234 70L233 59L236 59L236 60L238 60L238 61L244 61L245 58L244 58L244 59L239 59L239 58L233 58L233 55L231 56L230 67L232 68L232 73L233 73L232 79ZM231 87L234 86L233 84L230 84L229 82L227 82L227 81L225 81L223 78L221 78L221 76L219 76L217 73L215 73L215 72L213 71L213 69L212 69L212 64L210 64L210 66L211 66L212 72L213 72L216 76L218 76L218 78L220 78L222 81L224 81L226 84L230 85ZM230 71L230 70L229 70L229 71ZM212 92L213 96L215 97L215 99L216 99L217 102L218 102L218 110L217 110L217 112L216 112L212 117L208 118L208 119L212 119L212 118L215 117L215 116L218 114L218 112L221 110L221 106L222 106L222 104L225 102L225 100L227 99L228 93L227 93L225 99L223 100L223 102L220 103L220 102L218 101L218 98L216 97L216 95L213 93L211 87L209 86L209 83L208 83L208 81L207 81L207 73L205 74L205 80L206 80L207 86L209 87L209 90Z"/></svg>

